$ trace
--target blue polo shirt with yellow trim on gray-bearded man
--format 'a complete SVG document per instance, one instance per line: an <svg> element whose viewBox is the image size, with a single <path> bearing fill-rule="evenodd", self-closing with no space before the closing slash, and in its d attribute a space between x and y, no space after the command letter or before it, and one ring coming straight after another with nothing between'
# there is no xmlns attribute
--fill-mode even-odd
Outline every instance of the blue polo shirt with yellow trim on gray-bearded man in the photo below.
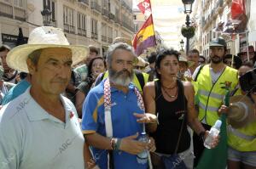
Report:
<svg viewBox="0 0 256 169"><path fill-rule="evenodd" d="M97 132L106 137L104 114L103 80L88 93L83 105L82 130L84 134ZM111 87L111 117L113 126L113 138L125 138L143 131L143 125L137 123L133 113L143 113L137 103L134 85L129 85L128 93ZM92 148L98 166L108 169L108 150ZM147 164L138 164L137 155L131 155L124 151L113 151L114 167L117 169L145 169Z"/></svg>

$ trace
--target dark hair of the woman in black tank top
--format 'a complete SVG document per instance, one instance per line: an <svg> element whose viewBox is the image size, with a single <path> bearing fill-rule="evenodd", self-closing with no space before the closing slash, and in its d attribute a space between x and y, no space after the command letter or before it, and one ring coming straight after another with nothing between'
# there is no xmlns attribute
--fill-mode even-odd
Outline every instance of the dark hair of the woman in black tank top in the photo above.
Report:
<svg viewBox="0 0 256 169"><path fill-rule="evenodd" d="M167 55L174 55L177 58L178 61L178 52L177 50L173 50L173 49L167 49L164 50L162 52L160 52L160 54L157 55L156 60L155 60L155 74L156 77L158 79L160 79L160 74L157 72L157 69L160 69L160 62L162 59L165 59Z"/></svg>

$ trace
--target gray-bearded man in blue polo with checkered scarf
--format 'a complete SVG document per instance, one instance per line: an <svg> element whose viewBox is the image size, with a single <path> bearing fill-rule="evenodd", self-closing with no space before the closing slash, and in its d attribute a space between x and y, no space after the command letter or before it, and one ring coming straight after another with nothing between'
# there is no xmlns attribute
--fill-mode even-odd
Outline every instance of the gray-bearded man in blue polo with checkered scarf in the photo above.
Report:
<svg viewBox="0 0 256 169"><path fill-rule="evenodd" d="M137 141L143 123L157 122L155 115L145 113L141 94L131 80L135 54L126 43L108 48L109 77L88 93L83 106L82 130L92 146L93 161L101 169L146 169L137 154L144 149L154 151L154 140ZM109 165L109 166L108 166Z"/></svg>

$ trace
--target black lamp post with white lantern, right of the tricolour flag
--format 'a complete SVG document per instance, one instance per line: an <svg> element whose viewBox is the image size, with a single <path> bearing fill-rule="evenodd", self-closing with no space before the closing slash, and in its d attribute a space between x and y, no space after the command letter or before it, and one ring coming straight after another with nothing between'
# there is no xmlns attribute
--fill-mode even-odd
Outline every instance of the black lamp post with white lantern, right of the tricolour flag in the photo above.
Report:
<svg viewBox="0 0 256 169"><path fill-rule="evenodd" d="M190 25L190 18L189 14L192 13L192 4L194 3L194 0L182 0L184 5L184 14L186 14L186 26L189 28ZM189 53L189 37L187 38L187 46L186 46L186 54Z"/></svg>

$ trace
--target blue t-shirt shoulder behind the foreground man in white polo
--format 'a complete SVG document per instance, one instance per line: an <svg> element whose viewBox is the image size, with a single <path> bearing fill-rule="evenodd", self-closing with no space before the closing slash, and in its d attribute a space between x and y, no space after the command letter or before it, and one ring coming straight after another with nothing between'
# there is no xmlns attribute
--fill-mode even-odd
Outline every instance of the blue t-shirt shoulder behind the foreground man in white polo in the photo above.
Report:
<svg viewBox="0 0 256 169"><path fill-rule="evenodd" d="M30 87L29 82L27 82L25 79L20 81L15 87L9 89L9 92L4 95L2 105L8 104L10 101L20 96L20 94L24 93L28 87Z"/></svg>

